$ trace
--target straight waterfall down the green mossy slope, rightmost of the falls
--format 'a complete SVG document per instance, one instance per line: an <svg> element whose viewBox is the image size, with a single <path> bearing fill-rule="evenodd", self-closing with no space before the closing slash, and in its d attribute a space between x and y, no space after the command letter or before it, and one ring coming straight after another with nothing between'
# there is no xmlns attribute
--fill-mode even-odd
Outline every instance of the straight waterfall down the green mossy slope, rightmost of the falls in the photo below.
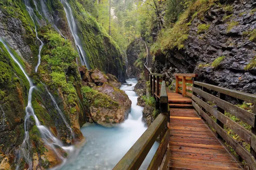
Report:
<svg viewBox="0 0 256 170"><path fill-rule="evenodd" d="M78 28L77 28L77 25L76 25L76 20L73 17L72 8L71 8L69 2L67 2L67 0L61 0L61 3L64 6L64 10L66 12L67 22L69 24L69 27L70 27L70 30L72 32L73 38L75 40L76 49L79 53L79 58L80 58L81 64L86 65L88 70L90 70L91 68L90 68L90 65L87 62L87 56L86 56L86 53L83 49L82 41L81 41L81 39L79 38L79 35L78 35Z"/></svg>

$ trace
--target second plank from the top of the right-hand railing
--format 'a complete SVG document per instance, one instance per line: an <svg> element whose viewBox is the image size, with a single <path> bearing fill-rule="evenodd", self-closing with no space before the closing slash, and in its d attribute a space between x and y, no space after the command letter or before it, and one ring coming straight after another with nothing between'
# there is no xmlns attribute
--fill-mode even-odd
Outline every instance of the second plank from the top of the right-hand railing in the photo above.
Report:
<svg viewBox="0 0 256 170"><path fill-rule="evenodd" d="M254 127L255 114L248 112L242 108L239 108L235 105L232 105L231 103L226 102L225 100L221 100L218 97L206 93L198 88L193 87L193 92L199 94L206 100L209 100L213 104L219 106L220 108L224 109L225 111L229 112L230 114L234 115L235 117L241 119L245 123L250 124L252 127Z"/></svg>

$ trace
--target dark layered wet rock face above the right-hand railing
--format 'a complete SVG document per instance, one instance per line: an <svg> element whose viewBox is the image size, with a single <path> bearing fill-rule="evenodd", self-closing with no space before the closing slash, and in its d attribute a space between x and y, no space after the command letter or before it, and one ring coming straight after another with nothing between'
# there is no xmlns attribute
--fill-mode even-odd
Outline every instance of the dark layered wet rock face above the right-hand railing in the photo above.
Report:
<svg viewBox="0 0 256 170"><path fill-rule="evenodd" d="M245 70L256 56L255 39L250 40L250 36L246 35L246 32L256 29L256 12L252 11L255 1L235 1L230 5L231 11L215 5L203 18L195 18L184 49L156 56L155 72L167 73L169 82L174 79L174 72L198 73L199 81L256 93L256 68ZM225 18L227 16L230 17ZM198 33L201 24L209 25L209 29ZM225 58L218 67L212 67L213 61L221 56Z"/></svg>

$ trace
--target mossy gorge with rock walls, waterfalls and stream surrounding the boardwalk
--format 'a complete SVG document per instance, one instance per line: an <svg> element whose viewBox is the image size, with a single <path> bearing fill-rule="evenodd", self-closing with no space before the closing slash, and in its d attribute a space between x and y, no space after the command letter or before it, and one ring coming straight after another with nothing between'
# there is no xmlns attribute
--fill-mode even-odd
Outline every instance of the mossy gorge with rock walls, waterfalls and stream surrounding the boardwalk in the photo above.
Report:
<svg viewBox="0 0 256 170"><path fill-rule="evenodd" d="M256 94L255 45L254 0L1 0L0 170L113 169L160 115L162 82L182 89L174 74Z"/></svg>

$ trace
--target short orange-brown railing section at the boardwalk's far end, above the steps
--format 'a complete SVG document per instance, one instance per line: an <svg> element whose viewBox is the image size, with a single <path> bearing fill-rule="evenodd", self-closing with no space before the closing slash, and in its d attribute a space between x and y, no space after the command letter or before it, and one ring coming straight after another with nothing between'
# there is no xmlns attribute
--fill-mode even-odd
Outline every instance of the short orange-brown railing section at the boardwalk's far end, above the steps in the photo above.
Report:
<svg viewBox="0 0 256 170"><path fill-rule="evenodd" d="M192 97L192 85L193 82L196 80L198 74L174 74L176 78L176 93L181 93L182 96L189 96ZM180 83L181 82L181 83Z"/></svg>

